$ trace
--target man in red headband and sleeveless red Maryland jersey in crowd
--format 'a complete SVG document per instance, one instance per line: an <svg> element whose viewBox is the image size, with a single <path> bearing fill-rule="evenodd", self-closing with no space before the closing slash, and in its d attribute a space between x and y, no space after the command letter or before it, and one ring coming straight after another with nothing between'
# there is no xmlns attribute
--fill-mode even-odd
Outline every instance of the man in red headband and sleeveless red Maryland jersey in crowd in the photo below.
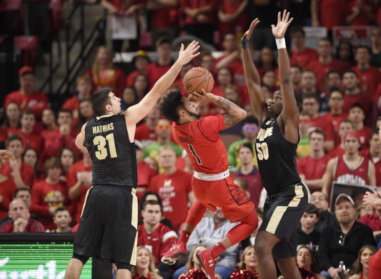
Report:
<svg viewBox="0 0 381 279"><path fill-rule="evenodd" d="M323 175L322 192L327 197L331 194L332 181L376 186L374 165L369 159L358 154L360 146L356 132L345 134L345 154L329 160Z"/></svg>

